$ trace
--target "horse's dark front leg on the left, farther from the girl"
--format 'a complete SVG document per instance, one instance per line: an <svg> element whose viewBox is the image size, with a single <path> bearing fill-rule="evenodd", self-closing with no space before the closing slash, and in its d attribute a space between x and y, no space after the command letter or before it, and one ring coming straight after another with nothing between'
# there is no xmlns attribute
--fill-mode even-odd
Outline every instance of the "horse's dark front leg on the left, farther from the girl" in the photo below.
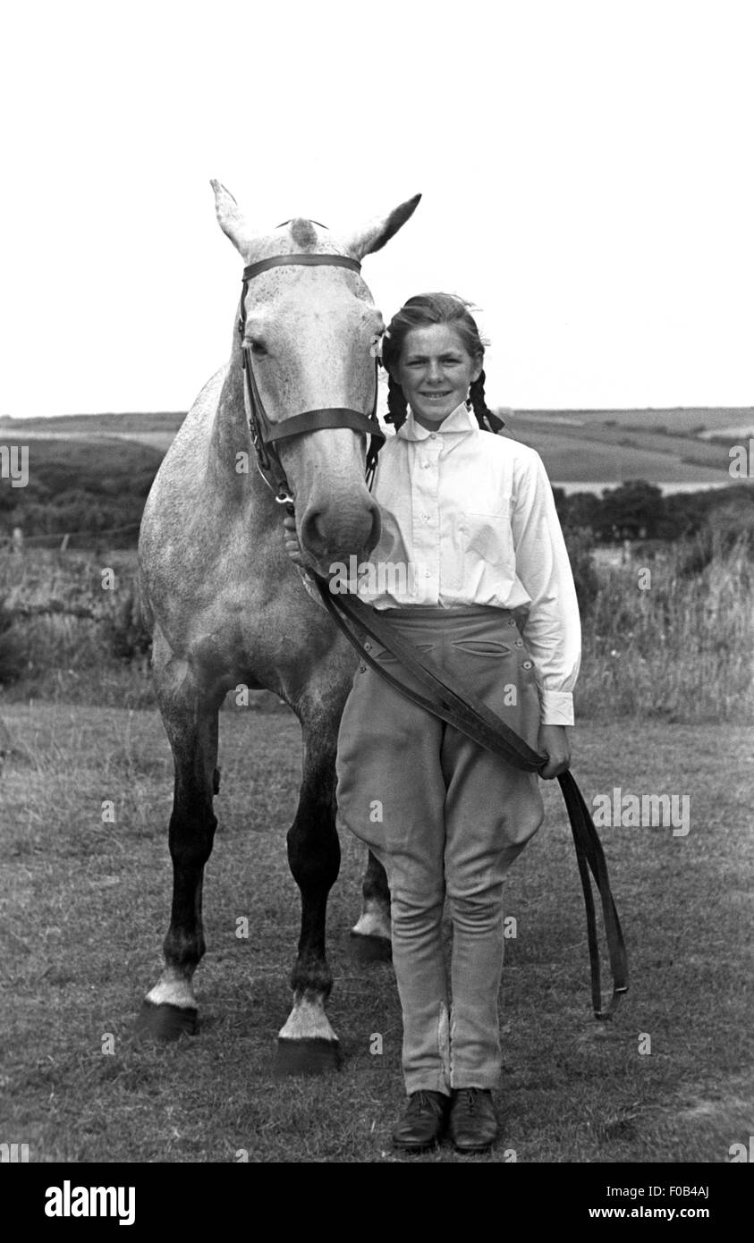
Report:
<svg viewBox="0 0 754 1243"><path fill-rule="evenodd" d="M175 787L169 825L173 906L164 940L165 968L142 1004L137 1030L158 1040L197 1029L192 977L204 953L202 881L212 853L219 784L216 697L207 701L184 663L165 661L156 687L173 750Z"/></svg>

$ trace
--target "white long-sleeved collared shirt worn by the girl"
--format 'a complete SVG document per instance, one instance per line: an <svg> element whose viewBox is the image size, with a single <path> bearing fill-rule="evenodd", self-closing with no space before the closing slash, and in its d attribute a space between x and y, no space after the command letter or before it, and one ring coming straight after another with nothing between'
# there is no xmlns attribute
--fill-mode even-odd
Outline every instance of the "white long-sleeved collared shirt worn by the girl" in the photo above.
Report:
<svg viewBox="0 0 754 1243"><path fill-rule="evenodd" d="M357 567L361 599L377 609L528 609L524 636L542 725L572 725L581 624L539 454L482 431L465 403L434 431L409 410L379 451L372 495L382 534L370 562Z"/></svg>

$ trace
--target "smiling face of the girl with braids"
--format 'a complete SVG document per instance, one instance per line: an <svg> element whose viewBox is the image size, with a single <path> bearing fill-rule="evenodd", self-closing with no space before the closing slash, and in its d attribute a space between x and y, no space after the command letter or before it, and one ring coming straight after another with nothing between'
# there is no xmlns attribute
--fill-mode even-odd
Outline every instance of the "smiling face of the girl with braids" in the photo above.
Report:
<svg viewBox="0 0 754 1243"><path fill-rule="evenodd" d="M455 329L448 323L432 323L406 334L394 379L414 420L432 429L465 401L480 374L482 359L467 353Z"/></svg>

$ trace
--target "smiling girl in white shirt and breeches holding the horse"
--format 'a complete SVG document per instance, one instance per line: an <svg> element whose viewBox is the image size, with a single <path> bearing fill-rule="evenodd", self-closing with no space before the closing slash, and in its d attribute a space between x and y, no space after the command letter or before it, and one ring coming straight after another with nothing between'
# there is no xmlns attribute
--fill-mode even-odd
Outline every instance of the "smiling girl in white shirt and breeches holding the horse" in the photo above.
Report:
<svg viewBox="0 0 754 1243"><path fill-rule="evenodd" d="M493 434L503 424L485 404L483 359L460 298L409 298L389 323L382 362L397 434L377 464L382 534L360 597L388 609L399 635L546 753L541 776L552 778L570 763L576 593L541 459ZM297 542L289 541L290 527L292 554ZM393 659L379 648L373 655ZM383 863L391 889L409 1098L393 1142L418 1151L448 1129L457 1150L483 1151L498 1131L503 886L542 820L536 776L361 665L341 722L337 777L338 824Z"/></svg>

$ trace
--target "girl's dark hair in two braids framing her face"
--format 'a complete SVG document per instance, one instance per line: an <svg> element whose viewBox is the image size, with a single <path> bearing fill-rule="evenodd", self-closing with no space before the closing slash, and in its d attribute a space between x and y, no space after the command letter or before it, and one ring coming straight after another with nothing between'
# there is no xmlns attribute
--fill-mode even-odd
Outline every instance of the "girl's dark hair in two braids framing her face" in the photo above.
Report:
<svg viewBox="0 0 754 1243"><path fill-rule="evenodd" d="M477 322L468 311L468 302L455 297L453 293L418 293L416 297L409 298L388 323L382 339L382 365L389 375L387 389L388 413L384 416L384 421L392 423L396 431L406 421L408 411L403 389L393 379L393 370L397 369L401 351L412 328L426 328L433 323L450 324L460 337L467 353L475 359L484 358L484 343L479 336ZM505 424L503 419L488 409L484 398L484 379L483 369L479 373L479 379L474 380L469 389L472 409L483 431L500 431Z"/></svg>

